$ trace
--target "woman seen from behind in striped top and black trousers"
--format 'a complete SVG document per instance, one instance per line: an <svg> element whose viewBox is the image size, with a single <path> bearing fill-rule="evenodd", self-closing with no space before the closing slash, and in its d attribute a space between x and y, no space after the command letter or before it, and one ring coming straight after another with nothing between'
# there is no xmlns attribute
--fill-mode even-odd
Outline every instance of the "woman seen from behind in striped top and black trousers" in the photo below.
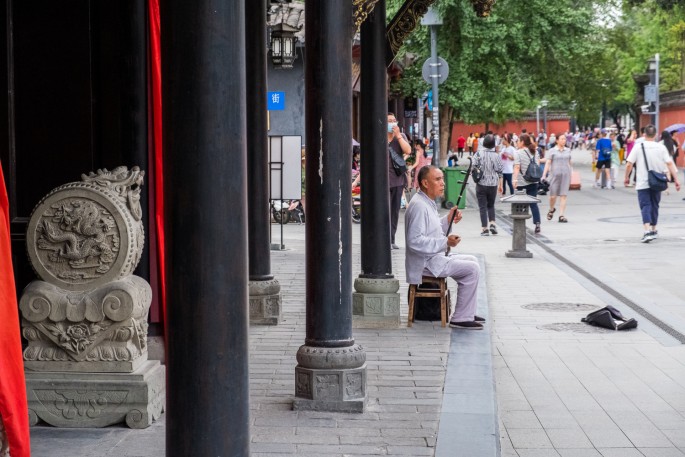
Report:
<svg viewBox="0 0 685 457"><path fill-rule="evenodd" d="M502 192L502 160L495 150L495 137L493 135L485 135L482 141L483 149L476 153L471 177L476 183L476 198L478 199L482 228L480 235L488 236L490 233L497 235L495 199L497 192ZM489 231L488 222L490 223Z"/></svg>

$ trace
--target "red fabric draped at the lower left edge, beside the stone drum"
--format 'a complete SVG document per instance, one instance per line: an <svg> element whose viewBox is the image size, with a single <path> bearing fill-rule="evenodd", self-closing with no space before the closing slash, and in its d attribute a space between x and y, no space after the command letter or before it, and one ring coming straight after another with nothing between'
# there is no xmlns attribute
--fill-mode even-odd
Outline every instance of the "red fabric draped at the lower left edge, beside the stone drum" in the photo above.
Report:
<svg viewBox="0 0 685 457"><path fill-rule="evenodd" d="M9 201L0 167L0 416L12 457L30 457L29 409L12 269Z"/></svg>

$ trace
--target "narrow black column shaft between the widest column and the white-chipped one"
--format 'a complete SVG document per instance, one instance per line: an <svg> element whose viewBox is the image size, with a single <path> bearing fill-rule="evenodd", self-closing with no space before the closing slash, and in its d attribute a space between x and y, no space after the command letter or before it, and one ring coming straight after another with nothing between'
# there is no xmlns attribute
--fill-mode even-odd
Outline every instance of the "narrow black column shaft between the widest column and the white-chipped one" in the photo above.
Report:
<svg viewBox="0 0 685 457"><path fill-rule="evenodd" d="M273 279L269 241L269 152L266 130L266 0L245 4L247 73L247 198L250 280Z"/></svg>

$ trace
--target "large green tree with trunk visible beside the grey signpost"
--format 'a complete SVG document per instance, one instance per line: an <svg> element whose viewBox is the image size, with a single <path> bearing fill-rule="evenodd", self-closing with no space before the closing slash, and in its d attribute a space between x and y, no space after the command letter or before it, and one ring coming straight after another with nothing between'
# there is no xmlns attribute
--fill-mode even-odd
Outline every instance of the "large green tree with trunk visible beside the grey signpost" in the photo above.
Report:
<svg viewBox="0 0 685 457"><path fill-rule="evenodd" d="M478 18L469 0L440 0L438 54L450 67L440 86L441 149L447 148L453 119L499 123L534 111L542 98L550 100L550 108L563 109L575 100L581 113L600 107L602 99L593 93L609 88L583 81L588 72L605 85L612 80L591 64L603 56L606 38L593 21L604 3L499 0L490 17ZM419 56L417 64L406 68L392 89L418 96L428 88L420 68L430 56L427 28L414 33L400 51L405 52Z"/></svg>

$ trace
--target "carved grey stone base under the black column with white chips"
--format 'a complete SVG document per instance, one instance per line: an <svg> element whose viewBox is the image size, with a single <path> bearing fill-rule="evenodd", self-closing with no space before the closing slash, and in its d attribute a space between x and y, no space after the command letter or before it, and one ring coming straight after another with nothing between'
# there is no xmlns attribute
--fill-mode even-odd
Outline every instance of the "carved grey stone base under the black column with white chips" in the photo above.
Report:
<svg viewBox="0 0 685 457"><path fill-rule="evenodd" d="M361 346L301 346L297 362L294 410L364 412L366 352Z"/></svg>

